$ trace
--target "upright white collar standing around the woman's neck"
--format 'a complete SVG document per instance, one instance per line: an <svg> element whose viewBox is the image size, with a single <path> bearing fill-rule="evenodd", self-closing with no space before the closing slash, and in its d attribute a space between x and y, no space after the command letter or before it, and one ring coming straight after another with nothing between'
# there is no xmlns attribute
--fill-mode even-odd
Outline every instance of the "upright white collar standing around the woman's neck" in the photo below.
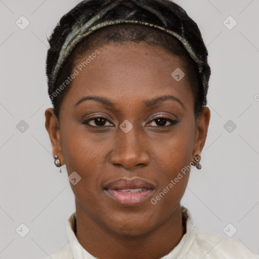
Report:
<svg viewBox="0 0 259 259"><path fill-rule="evenodd" d="M186 233L182 237L179 244L170 251L167 255L162 257L163 259L177 259L182 258L182 256L186 255L188 250L190 249L192 242L195 238L194 230L193 230L193 220L189 210L185 207L182 208L182 214L186 221ZM85 250L81 244L78 242L75 236L75 227L76 227L76 212L74 212L66 223L67 236L69 239L71 253L73 258L76 259L95 259L93 255L91 255L87 250Z"/></svg>

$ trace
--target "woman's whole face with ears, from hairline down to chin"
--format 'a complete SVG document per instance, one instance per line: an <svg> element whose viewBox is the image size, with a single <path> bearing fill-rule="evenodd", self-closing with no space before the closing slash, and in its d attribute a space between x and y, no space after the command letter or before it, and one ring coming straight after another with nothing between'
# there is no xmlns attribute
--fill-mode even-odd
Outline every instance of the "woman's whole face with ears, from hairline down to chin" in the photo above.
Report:
<svg viewBox="0 0 259 259"><path fill-rule="evenodd" d="M53 155L76 179L77 209L113 233L140 235L179 208L209 110L195 124L187 71L164 49L127 42L98 50L76 61L59 129L52 108L46 128Z"/></svg>

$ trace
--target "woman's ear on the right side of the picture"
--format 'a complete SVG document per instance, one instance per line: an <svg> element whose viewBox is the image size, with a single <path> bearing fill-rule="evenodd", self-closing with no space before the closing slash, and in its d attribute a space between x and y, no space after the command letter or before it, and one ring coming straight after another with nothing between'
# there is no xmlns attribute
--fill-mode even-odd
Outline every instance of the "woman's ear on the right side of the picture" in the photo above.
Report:
<svg viewBox="0 0 259 259"><path fill-rule="evenodd" d="M192 157L199 155L204 147L207 137L208 124L210 120L210 110L208 107L203 107L199 117L196 119L196 133L193 145Z"/></svg>

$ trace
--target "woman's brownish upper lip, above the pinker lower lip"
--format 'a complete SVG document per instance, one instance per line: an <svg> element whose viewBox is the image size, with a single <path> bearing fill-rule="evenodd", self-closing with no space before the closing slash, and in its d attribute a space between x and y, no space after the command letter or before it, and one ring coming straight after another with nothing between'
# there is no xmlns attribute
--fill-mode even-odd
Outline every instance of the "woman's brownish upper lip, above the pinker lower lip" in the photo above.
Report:
<svg viewBox="0 0 259 259"><path fill-rule="evenodd" d="M116 181L110 182L104 186L104 189L155 189L154 185L140 178L134 178L132 180L128 180L125 178L118 179Z"/></svg>

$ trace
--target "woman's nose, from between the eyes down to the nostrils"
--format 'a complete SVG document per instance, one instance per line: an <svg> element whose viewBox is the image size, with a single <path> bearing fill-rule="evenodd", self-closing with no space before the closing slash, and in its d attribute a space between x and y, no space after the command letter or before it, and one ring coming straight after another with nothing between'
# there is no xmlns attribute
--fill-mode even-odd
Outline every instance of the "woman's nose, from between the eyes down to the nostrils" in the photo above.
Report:
<svg viewBox="0 0 259 259"><path fill-rule="evenodd" d="M111 163L116 166L123 166L128 170L135 166L147 166L150 159L148 150L136 127L133 127L128 133L118 128L110 156Z"/></svg>

